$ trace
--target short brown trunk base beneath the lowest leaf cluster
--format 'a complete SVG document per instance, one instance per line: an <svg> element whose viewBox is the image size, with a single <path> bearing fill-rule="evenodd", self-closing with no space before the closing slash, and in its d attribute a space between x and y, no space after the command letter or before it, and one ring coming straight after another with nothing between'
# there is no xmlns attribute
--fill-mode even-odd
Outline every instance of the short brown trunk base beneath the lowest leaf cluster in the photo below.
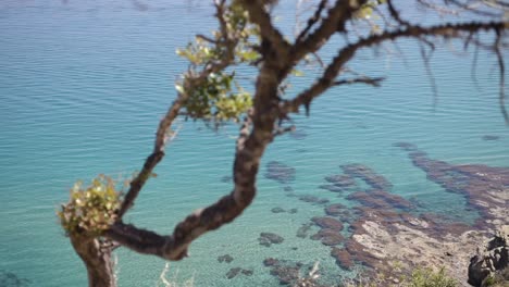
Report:
<svg viewBox="0 0 509 287"><path fill-rule="evenodd" d="M96 237L70 235L74 250L82 258L88 273L89 287L116 287L111 261L111 248Z"/></svg>

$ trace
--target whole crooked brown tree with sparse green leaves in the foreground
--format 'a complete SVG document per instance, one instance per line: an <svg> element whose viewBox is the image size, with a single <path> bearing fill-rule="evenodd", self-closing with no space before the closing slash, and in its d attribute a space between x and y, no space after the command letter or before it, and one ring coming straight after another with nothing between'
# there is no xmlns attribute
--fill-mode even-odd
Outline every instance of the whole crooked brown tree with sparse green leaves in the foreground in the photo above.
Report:
<svg viewBox="0 0 509 287"><path fill-rule="evenodd" d="M373 49L399 38L413 38L421 43L422 57L433 51L438 39L460 39L464 48L488 49L498 59L500 108L506 121L501 49L509 22L502 18L507 3L495 0L444 0L436 3L418 0L415 4L437 12L449 10L473 13L483 21L444 22L424 26L409 22L393 0L309 1L312 11L293 40L273 23L272 9L277 1L215 0L219 28L212 36L197 35L178 53L189 61L189 70L176 84L176 100L157 129L152 153L141 171L131 180L125 196L115 183L99 176L91 186L76 185L70 201L59 211L61 223L76 253L84 261L89 286L115 286L111 252L123 246L136 252L182 260L189 245L209 230L234 221L249 207L257 192L259 163L266 147L281 134L291 130L291 114L301 108L309 114L314 99L326 90L350 84L380 86L383 78L364 76L348 68L348 63L362 49ZM376 16L375 20L373 17ZM494 37L482 37L482 33ZM345 39L330 61L318 55L333 36ZM286 80L293 73L315 59L321 75L294 97L285 95ZM257 82L253 95L243 89L235 68L253 66ZM173 234L159 235L123 222L145 183L164 157L164 148L175 132L175 118L203 121L216 128L228 121L238 122L240 132L233 163L234 186L231 194L215 203L195 211Z"/></svg>

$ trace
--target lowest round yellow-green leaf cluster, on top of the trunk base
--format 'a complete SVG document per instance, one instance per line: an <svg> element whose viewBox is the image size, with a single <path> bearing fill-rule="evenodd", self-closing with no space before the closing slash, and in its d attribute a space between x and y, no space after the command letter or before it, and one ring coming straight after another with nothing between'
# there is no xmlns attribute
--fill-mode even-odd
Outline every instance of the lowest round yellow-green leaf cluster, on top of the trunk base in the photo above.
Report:
<svg viewBox="0 0 509 287"><path fill-rule="evenodd" d="M115 190L115 183L99 175L86 188L77 182L71 189L70 201L57 214L66 235L99 236L115 222L120 204L121 192Z"/></svg>

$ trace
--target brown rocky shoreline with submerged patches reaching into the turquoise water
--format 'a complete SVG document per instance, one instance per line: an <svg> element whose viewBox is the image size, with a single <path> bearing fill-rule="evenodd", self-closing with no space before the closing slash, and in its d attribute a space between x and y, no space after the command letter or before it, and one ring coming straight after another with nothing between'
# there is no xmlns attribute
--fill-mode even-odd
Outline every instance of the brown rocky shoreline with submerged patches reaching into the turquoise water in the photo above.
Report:
<svg viewBox="0 0 509 287"><path fill-rule="evenodd" d="M330 247L331 257L343 270L361 266L363 273L359 276L364 279L384 274L386 282L381 282L380 286L397 284L400 275L408 275L414 267L444 267L461 286L469 286L471 258L493 237L494 230L509 228L509 169L454 165L431 159L412 144L397 142L394 146L408 152L413 165L424 171L429 180L440 185L446 192L463 196L468 208L480 214L475 223L469 225L435 213L422 213L411 200L392 194L393 184L387 178L356 163L340 165L343 174L325 176L327 184L320 186L344 195L357 203L353 208L345 207L339 200L330 202L315 196L296 196L291 187L284 188L288 196L324 205L324 215L303 223L296 236L309 237ZM295 169L271 162L265 176L289 184L295 179ZM360 188L359 182L369 188ZM319 232L309 235L312 226ZM260 244L266 246L265 241ZM289 265L277 265L271 274L280 280L294 278L284 271L295 273L298 264ZM281 282L291 284L295 280Z"/></svg>

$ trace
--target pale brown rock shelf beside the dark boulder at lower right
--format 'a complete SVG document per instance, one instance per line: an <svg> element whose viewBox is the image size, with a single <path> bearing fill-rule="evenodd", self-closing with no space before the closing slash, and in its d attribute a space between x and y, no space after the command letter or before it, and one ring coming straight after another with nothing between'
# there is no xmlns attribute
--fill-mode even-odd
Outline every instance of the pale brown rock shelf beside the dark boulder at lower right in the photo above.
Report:
<svg viewBox="0 0 509 287"><path fill-rule="evenodd" d="M401 273L407 274L418 266L444 266L449 276L467 284L471 250L487 240L494 229L509 225L509 169L454 165L431 159L412 144L395 146L408 151L412 163L444 191L463 196L465 209L479 212L479 219L468 224L454 221L447 214L418 213L411 201L389 194L392 184L370 167L344 165L346 174L363 179L371 189L348 196L360 205L353 208L355 214L349 219L351 235L345 239L345 249L333 248L331 255L342 267L350 266L351 262L371 267L372 275L392 274L395 262L405 266L406 271ZM339 209L333 209L333 212L337 214ZM483 269L505 264L499 262L504 262L507 253L497 248L473 259L471 269L481 266L482 275Z"/></svg>

